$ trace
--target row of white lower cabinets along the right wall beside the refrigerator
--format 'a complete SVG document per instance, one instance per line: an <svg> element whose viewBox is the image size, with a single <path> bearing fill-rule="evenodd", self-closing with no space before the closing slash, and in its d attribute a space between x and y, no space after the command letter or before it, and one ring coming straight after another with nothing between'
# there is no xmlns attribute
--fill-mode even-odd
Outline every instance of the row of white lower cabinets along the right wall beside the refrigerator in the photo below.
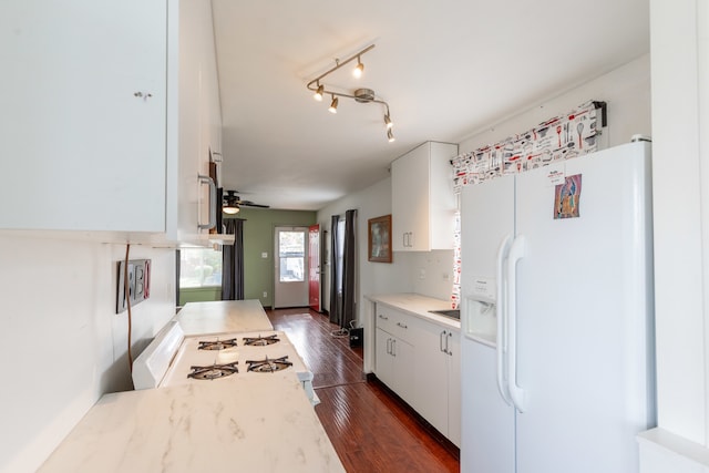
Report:
<svg viewBox="0 0 709 473"><path fill-rule="evenodd" d="M460 446L460 332L377 305L377 377Z"/></svg>

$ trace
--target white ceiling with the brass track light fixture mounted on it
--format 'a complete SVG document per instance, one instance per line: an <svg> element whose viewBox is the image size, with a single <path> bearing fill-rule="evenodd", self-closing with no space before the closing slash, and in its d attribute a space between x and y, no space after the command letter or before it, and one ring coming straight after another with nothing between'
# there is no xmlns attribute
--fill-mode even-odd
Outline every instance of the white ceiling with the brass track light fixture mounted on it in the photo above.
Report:
<svg viewBox="0 0 709 473"><path fill-rule="evenodd" d="M212 0L225 189L271 208L317 210L388 176L429 141L460 143L649 51L648 0ZM376 91L384 109L312 99L322 80ZM589 97L596 99L596 97ZM500 137L501 140L504 136ZM461 150L467 151L467 150Z"/></svg>

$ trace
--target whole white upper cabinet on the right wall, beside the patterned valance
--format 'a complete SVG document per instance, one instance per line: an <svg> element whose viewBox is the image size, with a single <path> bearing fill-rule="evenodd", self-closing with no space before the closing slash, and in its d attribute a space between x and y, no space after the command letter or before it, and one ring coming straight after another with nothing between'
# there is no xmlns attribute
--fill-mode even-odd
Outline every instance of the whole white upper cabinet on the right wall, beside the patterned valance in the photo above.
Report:
<svg viewBox="0 0 709 473"><path fill-rule="evenodd" d="M455 144L427 142L391 164L394 251L453 248L455 155Z"/></svg>

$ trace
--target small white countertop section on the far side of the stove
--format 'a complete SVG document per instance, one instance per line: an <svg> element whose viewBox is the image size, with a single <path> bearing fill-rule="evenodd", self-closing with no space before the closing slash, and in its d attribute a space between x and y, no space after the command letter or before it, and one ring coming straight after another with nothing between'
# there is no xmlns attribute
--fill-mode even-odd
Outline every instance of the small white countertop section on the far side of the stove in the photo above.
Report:
<svg viewBox="0 0 709 473"><path fill-rule="evenodd" d="M188 302L174 320L187 337L274 329L258 299Z"/></svg>

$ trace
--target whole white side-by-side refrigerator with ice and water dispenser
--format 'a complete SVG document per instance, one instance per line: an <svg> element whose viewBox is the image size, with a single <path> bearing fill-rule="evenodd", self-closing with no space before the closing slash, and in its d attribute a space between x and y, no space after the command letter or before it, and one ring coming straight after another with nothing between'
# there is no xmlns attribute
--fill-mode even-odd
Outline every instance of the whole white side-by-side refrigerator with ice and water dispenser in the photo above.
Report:
<svg viewBox="0 0 709 473"><path fill-rule="evenodd" d="M630 473L656 423L650 145L463 189L464 473Z"/></svg>

